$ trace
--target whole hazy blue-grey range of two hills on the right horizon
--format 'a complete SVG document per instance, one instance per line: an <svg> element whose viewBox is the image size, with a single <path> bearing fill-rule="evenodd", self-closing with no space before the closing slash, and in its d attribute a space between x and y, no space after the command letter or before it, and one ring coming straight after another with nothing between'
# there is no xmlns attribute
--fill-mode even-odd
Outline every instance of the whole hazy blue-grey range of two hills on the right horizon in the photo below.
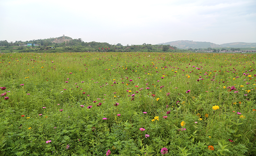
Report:
<svg viewBox="0 0 256 156"><path fill-rule="evenodd" d="M196 42L196 41L188 41L188 40L180 40L180 41L172 41L166 43L159 43L157 45L170 45L176 46L179 49L199 49L199 48L221 48L221 47L256 47L256 43L245 43L245 42L234 42L234 43L224 43L221 45L217 45L211 42Z"/></svg>

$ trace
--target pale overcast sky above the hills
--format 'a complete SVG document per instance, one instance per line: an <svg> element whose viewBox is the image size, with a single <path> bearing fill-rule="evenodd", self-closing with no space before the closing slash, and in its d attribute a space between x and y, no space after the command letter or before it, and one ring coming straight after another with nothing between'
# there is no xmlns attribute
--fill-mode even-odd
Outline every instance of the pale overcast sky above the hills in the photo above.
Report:
<svg viewBox="0 0 256 156"><path fill-rule="evenodd" d="M0 40L256 42L256 0L0 0Z"/></svg>

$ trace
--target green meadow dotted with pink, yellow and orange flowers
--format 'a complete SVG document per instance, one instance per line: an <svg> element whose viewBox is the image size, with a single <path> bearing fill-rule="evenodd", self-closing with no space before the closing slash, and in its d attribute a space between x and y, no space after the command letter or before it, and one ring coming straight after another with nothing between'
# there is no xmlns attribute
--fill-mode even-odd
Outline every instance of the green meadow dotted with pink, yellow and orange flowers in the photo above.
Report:
<svg viewBox="0 0 256 156"><path fill-rule="evenodd" d="M255 54L0 54L0 156L254 156Z"/></svg>

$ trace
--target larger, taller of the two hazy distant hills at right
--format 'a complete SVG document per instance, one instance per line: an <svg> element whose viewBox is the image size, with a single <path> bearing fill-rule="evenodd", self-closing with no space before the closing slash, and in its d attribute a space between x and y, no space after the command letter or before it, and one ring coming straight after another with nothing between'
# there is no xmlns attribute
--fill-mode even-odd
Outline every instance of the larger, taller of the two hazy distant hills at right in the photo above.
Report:
<svg viewBox="0 0 256 156"><path fill-rule="evenodd" d="M176 46L179 49L188 49L188 48L218 48L222 47L220 45L217 45L215 43L211 42L195 42L195 41L188 41L188 40L180 40L180 41L172 41L172 42L166 42L166 43L159 43L158 45L170 45L170 46Z"/></svg>

